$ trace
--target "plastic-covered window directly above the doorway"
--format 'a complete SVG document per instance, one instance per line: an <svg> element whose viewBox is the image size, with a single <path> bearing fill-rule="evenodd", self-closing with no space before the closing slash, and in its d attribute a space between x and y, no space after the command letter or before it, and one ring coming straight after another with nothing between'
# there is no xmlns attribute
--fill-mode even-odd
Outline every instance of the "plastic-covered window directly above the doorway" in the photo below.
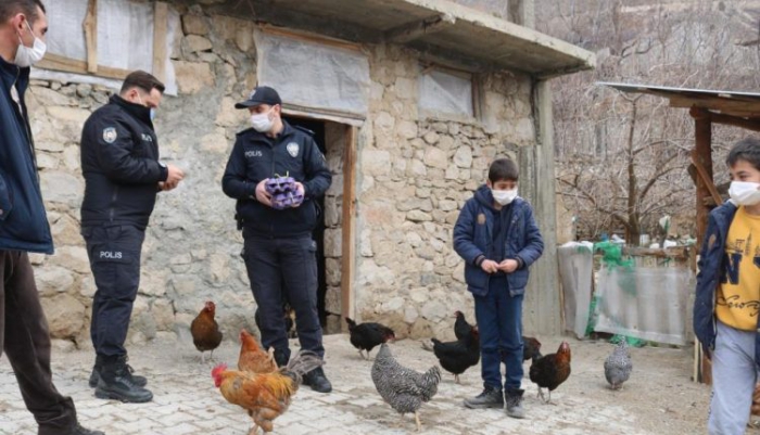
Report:
<svg viewBox="0 0 760 435"><path fill-rule="evenodd" d="M258 84L287 106L366 118L369 61L357 46L283 33L256 31Z"/></svg>

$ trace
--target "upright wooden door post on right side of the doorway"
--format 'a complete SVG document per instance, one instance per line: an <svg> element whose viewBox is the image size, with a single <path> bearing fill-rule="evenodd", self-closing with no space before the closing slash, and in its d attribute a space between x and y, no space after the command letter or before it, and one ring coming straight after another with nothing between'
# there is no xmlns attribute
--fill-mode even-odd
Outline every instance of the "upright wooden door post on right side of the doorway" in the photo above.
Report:
<svg viewBox="0 0 760 435"><path fill-rule="evenodd" d="M346 126L343 152L343 221L341 245L341 316L354 318L354 216L356 215L356 127ZM343 331L347 325L341 319Z"/></svg>

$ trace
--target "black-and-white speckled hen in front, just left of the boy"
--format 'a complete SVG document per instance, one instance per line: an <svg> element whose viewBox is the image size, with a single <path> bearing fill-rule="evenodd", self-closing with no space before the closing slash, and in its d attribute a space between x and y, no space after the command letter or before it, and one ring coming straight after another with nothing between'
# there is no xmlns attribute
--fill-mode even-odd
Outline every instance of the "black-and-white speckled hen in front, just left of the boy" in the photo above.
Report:
<svg viewBox="0 0 760 435"><path fill-rule="evenodd" d="M415 413L419 432L422 430L419 408L438 393L441 371L438 367L425 373L407 369L393 358L390 347L383 343L372 364L372 382L382 399L402 417L407 412Z"/></svg>

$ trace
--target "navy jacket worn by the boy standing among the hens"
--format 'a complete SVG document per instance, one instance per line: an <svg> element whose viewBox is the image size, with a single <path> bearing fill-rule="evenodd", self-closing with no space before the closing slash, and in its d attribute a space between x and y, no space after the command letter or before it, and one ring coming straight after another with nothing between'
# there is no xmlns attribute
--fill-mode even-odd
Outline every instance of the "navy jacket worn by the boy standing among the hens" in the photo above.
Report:
<svg viewBox="0 0 760 435"><path fill-rule="evenodd" d="M544 240L539 231L539 226L533 218L531 205L521 197L516 197L509 207L511 221L509 232L503 240L494 240L493 234L493 195L487 185L481 185L469 199L454 226L454 251L465 259L465 281L467 290L478 296L489 293L490 273L486 273L476 260L481 255L492 252L493 243L502 243L504 258L514 258L520 265L511 273L507 273L509 294L511 296L525 293L529 267L541 257L544 252ZM498 215L497 215L498 216Z"/></svg>

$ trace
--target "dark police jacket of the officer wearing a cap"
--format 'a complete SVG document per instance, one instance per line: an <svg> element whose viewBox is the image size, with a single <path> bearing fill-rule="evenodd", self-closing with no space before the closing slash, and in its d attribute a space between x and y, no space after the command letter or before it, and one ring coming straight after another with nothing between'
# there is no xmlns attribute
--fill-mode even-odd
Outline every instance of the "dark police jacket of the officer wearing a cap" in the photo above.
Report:
<svg viewBox="0 0 760 435"><path fill-rule="evenodd" d="M250 128L238 133L221 179L224 192L238 200L237 217L246 233L269 238L311 235L317 225L315 200L330 187L332 176L308 130L283 121L277 138ZM278 210L256 201L256 185L266 178L293 177L304 185L299 207Z"/></svg>

